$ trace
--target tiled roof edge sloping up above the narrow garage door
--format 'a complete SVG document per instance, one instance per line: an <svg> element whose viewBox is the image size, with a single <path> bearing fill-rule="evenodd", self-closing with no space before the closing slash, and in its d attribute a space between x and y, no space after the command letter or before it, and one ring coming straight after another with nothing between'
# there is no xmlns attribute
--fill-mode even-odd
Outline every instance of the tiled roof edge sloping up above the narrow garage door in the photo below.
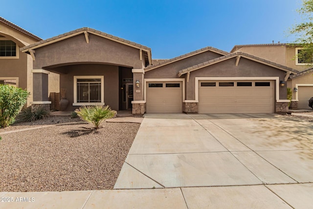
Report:
<svg viewBox="0 0 313 209"><path fill-rule="evenodd" d="M181 60L181 59L184 59L184 58L187 58L187 57L190 57L190 56L193 56L193 55L199 54L199 53L201 53L201 52L205 52L205 51L214 51L214 52L219 53L219 54L222 54L222 55L229 54L229 52L227 52L227 51L223 51L223 50L220 50L220 49L218 49L218 48L214 48L214 47L212 47L212 46L207 46L207 47L198 49L198 50L196 50L196 51L192 51L192 52L189 52L189 53L187 53L187 54L183 54L183 55L180 55L180 56L178 56L178 57L174 57L174 58L172 58L172 59L169 59L169 60L165 60L165 61L163 61L163 62L156 63L155 65L151 65L151 66L145 68L145 71L152 70L152 69L155 69L155 68L158 68L158 67L161 67L161 66L164 66L164 65L167 65L167 64L170 64L170 63L179 61L179 60Z"/></svg>

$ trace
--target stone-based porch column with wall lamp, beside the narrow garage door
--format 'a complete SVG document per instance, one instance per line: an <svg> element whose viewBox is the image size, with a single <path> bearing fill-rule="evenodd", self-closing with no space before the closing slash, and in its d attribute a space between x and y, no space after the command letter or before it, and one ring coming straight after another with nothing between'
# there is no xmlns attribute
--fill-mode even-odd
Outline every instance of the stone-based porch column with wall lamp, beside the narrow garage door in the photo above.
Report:
<svg viewBox="0 0 313 209"><path fill-rule="evenodd" d="M146 112L146 101L144 101L144 74L143 69L133 69L133 82L134 82L134 101L132 101L132 113L144 114ZM139 82L137 87L136 82Z"/></svg>

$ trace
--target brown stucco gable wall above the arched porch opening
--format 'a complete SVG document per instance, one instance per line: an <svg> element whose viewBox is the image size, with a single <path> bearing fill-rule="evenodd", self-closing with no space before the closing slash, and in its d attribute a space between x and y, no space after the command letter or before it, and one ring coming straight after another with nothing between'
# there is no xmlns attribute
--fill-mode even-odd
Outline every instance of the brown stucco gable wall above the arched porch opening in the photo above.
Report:
<svg viewBox="0 0 313 209"><path fill-rule="evenodd" d="M93 34L89 34L89 44L86 42L85 35L79 34L54 44L42 46L35 51L34 68L36 69L83 62L112 64L134 69L142 68L139 49Z"/></svg>

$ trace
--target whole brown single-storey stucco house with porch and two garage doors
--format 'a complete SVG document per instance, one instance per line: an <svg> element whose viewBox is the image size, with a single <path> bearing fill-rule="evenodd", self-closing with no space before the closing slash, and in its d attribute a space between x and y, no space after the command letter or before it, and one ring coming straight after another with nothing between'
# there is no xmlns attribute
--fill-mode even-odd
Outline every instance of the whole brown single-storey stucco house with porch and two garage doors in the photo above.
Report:
<svg viewBox="0 0 313 209"><path fill-rule="evenodd" d="M105 103L133 114L284 114L289 100L281 83L299 72L210 46L152 65L149 47L88 27L21 51L34 57L33 105L49 106L46 80L55 72L67 90L67 111Z"/></svg>

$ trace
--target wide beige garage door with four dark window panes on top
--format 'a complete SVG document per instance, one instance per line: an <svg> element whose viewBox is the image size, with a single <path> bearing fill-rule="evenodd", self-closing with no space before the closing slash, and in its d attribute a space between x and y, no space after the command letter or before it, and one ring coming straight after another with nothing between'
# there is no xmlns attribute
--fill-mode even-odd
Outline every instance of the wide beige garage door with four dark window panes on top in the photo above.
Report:
<svg viewBox="0 0 313 209"><path fill-rule="evenodd" d="M274 113L274 81L199 81L199 113Z"/></svg>

